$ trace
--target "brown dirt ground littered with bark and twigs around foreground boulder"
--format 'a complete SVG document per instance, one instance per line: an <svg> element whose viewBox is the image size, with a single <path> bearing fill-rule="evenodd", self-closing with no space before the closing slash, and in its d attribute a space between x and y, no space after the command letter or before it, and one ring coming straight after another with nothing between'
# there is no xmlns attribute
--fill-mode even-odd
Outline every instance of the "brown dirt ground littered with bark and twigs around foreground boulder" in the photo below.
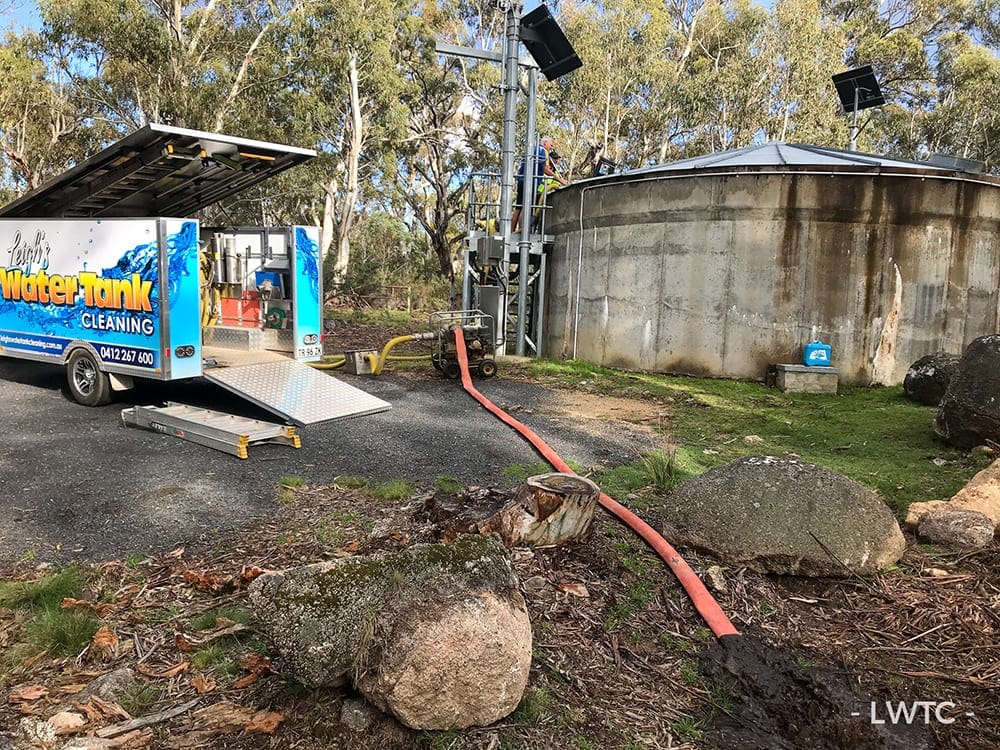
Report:
<svg viewBox="0 0 1000 750"><path fill-rule="evenodd" d="M665 408L655 403L557 392L537 408L662 439L650 428ZM195 552L94 568L73 606L98 612L113 638L75 657L32 654L12 668L0 681L0 727L68 708L87 718L76 736L117 727L110 734L120 747L1000 747L996 543L966 553L910 540L895 569L866 579L721 569L713 593L749 644L724 648L659 558L607 516L578 544L514 552L534 635L529 688L514 714L479 729L416 732L370 709L369 724L351 729L342 709L356 695L285 679L252 622L234 623L246 584L260 569L453 538L507 490L426 489L385 500L348 484L286 488L269 519ZM644 516L657 526L657 513ZM682 553L711 579L713 560ZM24 561L9 574L39 571ZM0 611L0 646L23 636L24 620ZM157 719L147 726L127 724L118 704L81 698L100 675L126 666L139 681L126 705ZM893 725L888 712L913 701L927 702L926 711Z"/></svg>

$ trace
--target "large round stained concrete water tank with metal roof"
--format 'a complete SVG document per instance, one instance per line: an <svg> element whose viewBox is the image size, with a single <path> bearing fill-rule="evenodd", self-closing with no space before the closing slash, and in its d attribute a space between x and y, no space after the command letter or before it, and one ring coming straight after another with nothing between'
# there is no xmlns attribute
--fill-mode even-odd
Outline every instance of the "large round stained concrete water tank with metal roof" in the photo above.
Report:
<svg viewBox="0 0 1000 750"><path fill-rule="evenodd" d="M1000 330L990 175L772 143L575 183L547 227L549 357L760 379L820 338L893 384Z"/></svg>

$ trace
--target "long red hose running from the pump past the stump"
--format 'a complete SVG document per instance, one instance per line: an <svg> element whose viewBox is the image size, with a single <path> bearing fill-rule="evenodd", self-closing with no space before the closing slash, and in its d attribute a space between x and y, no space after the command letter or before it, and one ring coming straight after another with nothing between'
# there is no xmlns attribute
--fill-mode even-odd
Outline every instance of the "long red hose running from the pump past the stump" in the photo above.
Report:
<svg viewBox="0 0 1000 750"><path fill-rule="evenodd" d="M537 450L542 457L548 461L552 466L558 471L575 474L565 461L563 461L559 455L552 450L552 448L534 431L528 426L518 422L510 414L505 412L499 406L490 401L486 396L476 390L476 387L472 384L472 377L469 375L469 357L465 352L465 336L462 332L460 326L456 326L455 330L455 349L458 353L458 363L462 368L462 387L471 395L476 401L485 406L492 414L500 419L500 421L506 423L510 427L513 427ZM694 608L701 615L705 624L715 633L716 638L722 638L727 635L739 635L739 631L733 627L733 624L726 617L726 613L722 611L722 607L719 603L715 601L715 598L708 592L705 588L705 584L701 582L698 575L691 569L684 558L677 554L677 550L670 546L659 533L657 533L652 526L639 518L635 513L630 511L628 508L621 505L616 500L612 499L603 492L600 494L600 503L604 508L615 516L619 520L623 521L629 528L631 528L636 534L641 536L650 547L656 550L657 554L663 558L663 561L669 566L670 570L673 571L674 575L677 576L677 580L680 582L681 586L687 592L687 595L691 598L691 603Z"/></svg>

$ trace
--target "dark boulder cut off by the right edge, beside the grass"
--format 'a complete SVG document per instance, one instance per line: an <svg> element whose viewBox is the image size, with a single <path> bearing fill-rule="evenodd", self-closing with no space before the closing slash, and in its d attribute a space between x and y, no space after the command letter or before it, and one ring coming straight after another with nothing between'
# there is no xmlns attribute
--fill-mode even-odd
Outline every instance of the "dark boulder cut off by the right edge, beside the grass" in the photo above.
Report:
<svg viewBox="0 0 1000 750"><path fill-rule="evenodd" d="M938 406L934 431L959 448L1000 442L1000 334L966 347Z"/></svg>

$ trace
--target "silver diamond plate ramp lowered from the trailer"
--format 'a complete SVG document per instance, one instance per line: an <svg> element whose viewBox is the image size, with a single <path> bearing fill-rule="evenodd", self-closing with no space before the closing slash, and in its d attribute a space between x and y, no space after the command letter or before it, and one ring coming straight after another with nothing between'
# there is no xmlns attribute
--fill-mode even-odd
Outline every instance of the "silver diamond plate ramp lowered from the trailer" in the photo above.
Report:
<svg viewBox="0 0 1000 750"><path fill-rule="evenodd" d="M300 426L391 408L388 402L294 359L206 368L203 375Z"/></svg>

